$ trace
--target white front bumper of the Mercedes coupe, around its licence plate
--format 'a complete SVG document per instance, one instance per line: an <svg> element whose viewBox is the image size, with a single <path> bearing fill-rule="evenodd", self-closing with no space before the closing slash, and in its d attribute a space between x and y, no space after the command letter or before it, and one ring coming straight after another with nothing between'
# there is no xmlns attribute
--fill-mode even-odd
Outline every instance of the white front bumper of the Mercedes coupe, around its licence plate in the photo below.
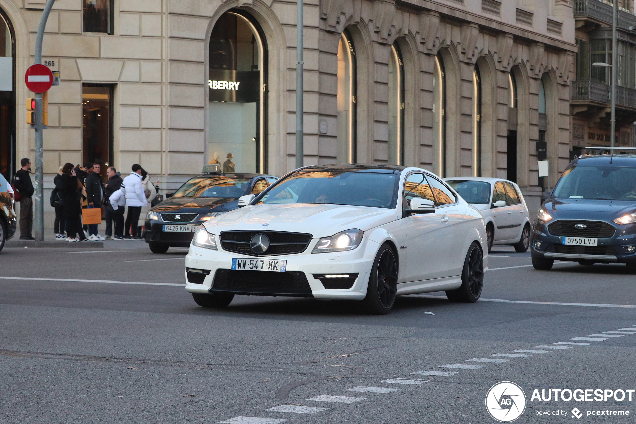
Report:
<svg viewBox="0 0 636 424"><path fill-rule="evenodd" d="M255 257L191 245L186 256L186 291L191 293L232 292L255 296L297 296L317 299L362 300L366 296L373 260L380 245L368 239L348 252L312 254L318 239L300 254ZM232 271L232 259L285 259L284 273L272 271ZM326 289L321 275L356 275L345 289ZM244 277L245 276L245 277ZM334 279L336 280L336 278ZM348 284L344 284L348 285Z"/></svg>

